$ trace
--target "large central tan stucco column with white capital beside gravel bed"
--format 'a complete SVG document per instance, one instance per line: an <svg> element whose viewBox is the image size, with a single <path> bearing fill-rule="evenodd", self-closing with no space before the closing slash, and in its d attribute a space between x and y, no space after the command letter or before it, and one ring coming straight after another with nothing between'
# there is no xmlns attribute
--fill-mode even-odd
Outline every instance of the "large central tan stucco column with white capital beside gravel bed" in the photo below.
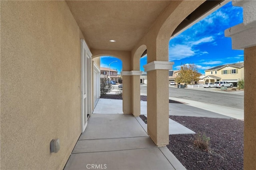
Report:
<svg viewBox="0 0 256 170"><path fill-rule="evenodd" d="M147 71L148 135L159 147L169 144L169 79L173 62L152 61Z"/></svg>

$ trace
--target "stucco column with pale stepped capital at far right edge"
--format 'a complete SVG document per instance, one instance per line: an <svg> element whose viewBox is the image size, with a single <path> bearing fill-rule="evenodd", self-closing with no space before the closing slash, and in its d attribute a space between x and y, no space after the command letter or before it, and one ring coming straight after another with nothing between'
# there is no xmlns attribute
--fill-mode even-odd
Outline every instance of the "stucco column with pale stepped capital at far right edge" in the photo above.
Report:
<svg viewBox="0 0 256 170"><path fill-rule="evenodd" d="M242 24L225 30L232 38L232 49L244 49L244 170L256 169L256 1L235 0L242 6Z"/></svg>

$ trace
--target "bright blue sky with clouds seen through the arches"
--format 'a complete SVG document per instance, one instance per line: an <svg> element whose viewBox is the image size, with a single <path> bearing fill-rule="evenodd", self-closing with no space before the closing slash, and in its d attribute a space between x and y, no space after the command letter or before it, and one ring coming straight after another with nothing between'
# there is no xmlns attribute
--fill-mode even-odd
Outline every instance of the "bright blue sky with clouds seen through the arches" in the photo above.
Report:
<svg viewBox="0 0 256 170"><path fill-rule="evenodd" d="M169 42L169 61L173 61L173 70L180 65L194 63L199 72L217 65L244 61L243 50L232 50L231 38L224 36L224 30L243 22L242 8L228 2L206 18L202 19ZM122 61L115 57L101 57L100 67L122 70ZM140 70L147 63L147 57L140 59Z"/></svg>

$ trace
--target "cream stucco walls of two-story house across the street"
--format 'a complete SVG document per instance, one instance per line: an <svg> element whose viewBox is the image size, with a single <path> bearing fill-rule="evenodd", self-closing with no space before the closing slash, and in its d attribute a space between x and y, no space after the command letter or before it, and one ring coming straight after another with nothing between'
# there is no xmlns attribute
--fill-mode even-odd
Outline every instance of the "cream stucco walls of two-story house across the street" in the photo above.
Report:
<svg viewBox="0 0 256 170"><path fill-rule="evenodd" d="M232 69L238 69L238 68L235 68L235 67L225 67L225 68L222 68L220 70L217 71L217 74L215 74L215 71L212 71L212 74L211 74L211 71L205 71L205 76L207 75L215 75L217 77L221 77L221 80L228 80L228 79L242 79L244 78L244 67L242 67L241 69L238 69L238 73L236 74L221 74L222 70L232 70Z"/></svg>

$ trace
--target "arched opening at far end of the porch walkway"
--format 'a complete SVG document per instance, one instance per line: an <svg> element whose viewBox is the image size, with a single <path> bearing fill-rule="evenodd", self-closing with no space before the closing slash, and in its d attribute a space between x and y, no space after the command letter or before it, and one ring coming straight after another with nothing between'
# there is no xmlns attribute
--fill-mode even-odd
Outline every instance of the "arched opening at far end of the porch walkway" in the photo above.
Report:
<svg viewBox="0 0 256 170"><path fill-rule="evenodd" d="M93 114L123 114L122 105L122 60L110 56L94 56L92 61L98 66L95 82L100 82L100 97L95 99ZM95 95L95 92L94 92Z"/></svg>

